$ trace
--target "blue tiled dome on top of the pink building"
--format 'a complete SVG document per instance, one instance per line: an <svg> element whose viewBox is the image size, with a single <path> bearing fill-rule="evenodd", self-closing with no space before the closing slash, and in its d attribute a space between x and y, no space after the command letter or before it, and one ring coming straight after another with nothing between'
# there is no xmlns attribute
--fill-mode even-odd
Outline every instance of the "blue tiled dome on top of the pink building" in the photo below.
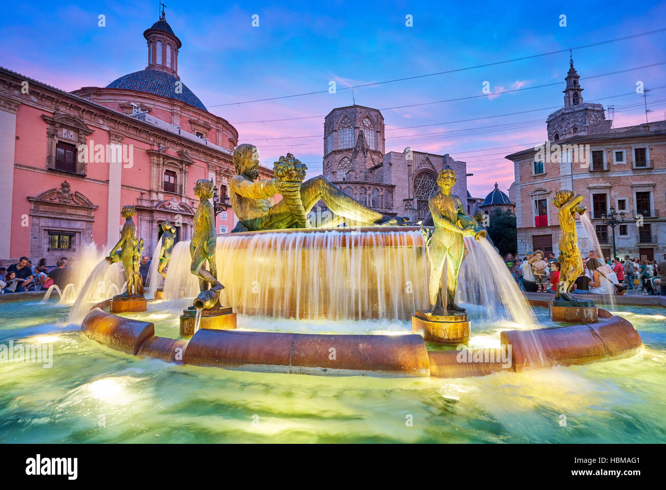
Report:
<svg viewBox="0 0 666 490"><path fill-rule="evenodd" d="M158 21L155 25L160 22L166 24L166 21ZM166 24L166 27L168 27L168 24ZM155 95L162 95L163 97L169 97L170 99L194 105L194 107L207 112L208 109L206 109L206 106L203 105L199 98L184 83L182 84L182 93L176 93L177 81L178 78L164 71L141 70L112 81L107 85L107 89L127 89L154 93Z"/></svg>

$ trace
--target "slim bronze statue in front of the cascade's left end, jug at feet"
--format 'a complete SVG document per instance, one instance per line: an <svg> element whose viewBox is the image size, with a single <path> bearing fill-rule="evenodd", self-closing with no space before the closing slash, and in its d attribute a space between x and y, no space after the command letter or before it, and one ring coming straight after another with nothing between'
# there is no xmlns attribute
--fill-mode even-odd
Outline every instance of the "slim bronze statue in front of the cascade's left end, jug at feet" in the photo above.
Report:
<svg viewBox="0 0 666 490"><path fill-rule="evenodd" d="M217 280L215 265L215 212L212 203L208 201L212 198L213 191L212 181L208 179L198 179L194 185L194 195L199 198L199 205L192 219L194 230L190 241L190 272L199 278L200 291L210 289L218 293L224 286ZM210 271L204 267L206 261Z"/></svg>

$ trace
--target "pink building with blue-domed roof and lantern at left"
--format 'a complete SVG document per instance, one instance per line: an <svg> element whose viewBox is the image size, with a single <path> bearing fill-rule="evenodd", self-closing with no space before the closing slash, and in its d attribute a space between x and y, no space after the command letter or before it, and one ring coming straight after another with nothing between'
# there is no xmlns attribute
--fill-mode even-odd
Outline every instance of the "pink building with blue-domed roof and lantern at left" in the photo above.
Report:
<svg viewBox="0 0 666 490"><path fill-rule="evenodd" d="M28 255L52 265L88 241L111 246L127 204L151 254L165 219L177 239L191 237L197 179L226 195L238 131L180 80L182 43L166 19L144 37L145 69L107 87L69 93L0 69L0 261ZM232 210L217 225L232 229Z"/></svg>

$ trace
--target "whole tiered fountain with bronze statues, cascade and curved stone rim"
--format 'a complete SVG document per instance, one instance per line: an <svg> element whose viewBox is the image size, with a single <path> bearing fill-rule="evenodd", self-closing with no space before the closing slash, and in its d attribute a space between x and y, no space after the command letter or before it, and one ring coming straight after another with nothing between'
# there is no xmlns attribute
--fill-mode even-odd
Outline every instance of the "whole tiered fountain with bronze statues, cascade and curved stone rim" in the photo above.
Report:
<svg viewBox="0 0 666 490"><path fill-rule="evenodd" d="M170 255L162 250L159 255L166 259L159 264L166 276L164 301L153 304L174 311L183 302L190 303L180 315L180 339L155 335L155 325L148 321L104 311L118 296L102 301L83 319L87 336L126 353L175 363L392 377L521 371L622 357L641 347L631 323L596 307L596 318L581 313L575 320L590 320L584 325L545 329L537 325L485 230L450 193L456 182L450 168L440 172L440 191L430 199L434 219L430 229L396 226L406 224L404 219L382 217L321 177L303 181L304 165L292 155L275 163L275 178L270 181L255 182L258 155L252 145L239 145L234 164L238 175L230 187L239 219L234 233L215 236L208 201L212 181L200 179L194 186L200 204L192 241L177 243ZM574 213L584 213L584 208L579 207L579 197L563 192L556 197L565 231L560 243L563 285L551 305L530 301L531 306L550 307L555 321L560 319L559 308L578 312L587 308L567 297L577 275ZM273 193L283 193L285 199L270 205L266 198ZM303 219L319 199L336 209L336 215L367 226L312 227ZM131 211L124 213L128 229L125 233L123 227L123 237L128 238L121 238L114 251L136 241L132 225L127 224ZM168 248L165 242L162 248ZM110 257L136 257L139 243L127 246ZM218 265L222 265L219 270ZM106 266L98 267L91 277ZM127 259L127 291L133 287L131 271L133 262ZM509 329L501 332L499 341L486 345L474 341L470 331L475 325L468 311L479 313L480 321L503 318ZM256 331L236 328L236 313L244 322L267 317L294 326L367 321L406 326L411 320L411 331L365 335ZM564 316L573 318L569 313Z"/></svg>

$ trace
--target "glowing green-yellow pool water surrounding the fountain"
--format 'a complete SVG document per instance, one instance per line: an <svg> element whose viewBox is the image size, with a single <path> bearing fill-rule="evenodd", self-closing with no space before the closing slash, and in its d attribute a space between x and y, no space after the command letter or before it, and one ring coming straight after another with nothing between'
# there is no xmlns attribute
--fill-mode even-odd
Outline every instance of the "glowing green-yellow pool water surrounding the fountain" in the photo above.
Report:
<svg viewBox="0 0 666 490"><path fill-rule="evenodd" d="M176 311L151 319L178 335ZM0 344L53 345L53 367L0 363L2 443L663 443L666 309L619 307L639 330L643 359L466 379L316 377L176 366L126 355L61 326L70 307L0 303ZM546 310L537 309L545 325ZM515 326L473 318L472 342ZM480 312L478 315L485 315ZM395 320L238 317L239 328L404 333ZM567 426L560 426L560 415ZM413 426L408 427L408 416Z"/></svg>

